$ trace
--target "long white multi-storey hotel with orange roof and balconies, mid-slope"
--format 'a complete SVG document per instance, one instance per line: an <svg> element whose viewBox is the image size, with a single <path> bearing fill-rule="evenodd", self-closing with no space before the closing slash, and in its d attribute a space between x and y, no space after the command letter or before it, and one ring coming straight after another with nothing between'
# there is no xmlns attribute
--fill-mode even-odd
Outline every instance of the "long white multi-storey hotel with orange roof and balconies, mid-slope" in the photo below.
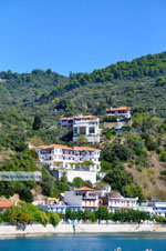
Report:
<svg viewBox="0 0 166 251"><path fill-rule="evenodd" d="M40 145L33 148L39 153L42 163L49 164L50 169L87 169L100 171L101 150L90 147L73 147L61 144Z"/></svg>

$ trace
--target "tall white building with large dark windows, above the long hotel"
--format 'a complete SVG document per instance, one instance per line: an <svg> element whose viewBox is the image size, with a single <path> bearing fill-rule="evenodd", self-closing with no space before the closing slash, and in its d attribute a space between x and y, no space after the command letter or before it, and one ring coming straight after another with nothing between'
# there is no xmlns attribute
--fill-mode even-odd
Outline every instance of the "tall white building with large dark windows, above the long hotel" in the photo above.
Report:
<svg viewBox="0 0 166 251"><path fill-rule="evenodd" d="M73 118L73 141L83 135L89 142L100 142L100 119L95 116Z"/></svg>

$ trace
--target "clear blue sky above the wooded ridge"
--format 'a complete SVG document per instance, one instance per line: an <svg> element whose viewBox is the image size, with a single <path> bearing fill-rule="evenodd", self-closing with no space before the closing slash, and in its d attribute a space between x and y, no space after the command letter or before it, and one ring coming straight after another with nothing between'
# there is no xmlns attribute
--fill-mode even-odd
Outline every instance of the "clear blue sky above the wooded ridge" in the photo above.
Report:
<svg viewBox="0 0 166 251"><path fill-rule="evenodd" d="M0 71L69 76L166 50L165 0L0 0Z"/></svg>

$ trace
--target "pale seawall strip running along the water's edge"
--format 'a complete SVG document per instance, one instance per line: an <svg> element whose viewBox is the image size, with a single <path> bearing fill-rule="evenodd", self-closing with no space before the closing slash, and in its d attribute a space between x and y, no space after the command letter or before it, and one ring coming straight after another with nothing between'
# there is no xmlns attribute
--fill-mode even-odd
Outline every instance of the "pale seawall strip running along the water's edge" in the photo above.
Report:
<svg viewBox="0 0 166 251"><path fill-rule="evenodd" d="M55 234L108 234L108 233L166 233L166 224L138 224L138 223L59 223L55 228L51 224L28 225L0 225L0 239L13 239L19 237L41 237Z"/></svg>

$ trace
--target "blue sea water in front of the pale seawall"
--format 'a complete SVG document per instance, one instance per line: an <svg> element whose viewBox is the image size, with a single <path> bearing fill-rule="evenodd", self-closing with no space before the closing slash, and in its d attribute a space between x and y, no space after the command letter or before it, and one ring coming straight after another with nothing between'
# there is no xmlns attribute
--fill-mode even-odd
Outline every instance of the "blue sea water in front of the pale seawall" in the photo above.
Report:
<svg viewBox="0 0 166 251"><path fill-rule="evenodd" d="M165 233L53 235L0 240L0 251L166 251Z"/></svg>

